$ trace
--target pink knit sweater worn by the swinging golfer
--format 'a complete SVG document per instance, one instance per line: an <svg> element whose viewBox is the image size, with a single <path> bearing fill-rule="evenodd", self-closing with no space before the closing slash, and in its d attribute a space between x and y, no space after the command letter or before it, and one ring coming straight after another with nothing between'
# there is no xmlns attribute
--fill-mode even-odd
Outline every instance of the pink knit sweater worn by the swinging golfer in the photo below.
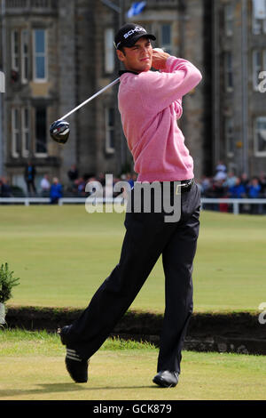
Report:
<svg viewBox="0 0 266 418"><path fill-rule="evenodd" d="M121 124L134 158L137 181L193 178L193 160L176 119L182 116L182 97L201 78L191 62L173 56L160 72L121 75Z"/></svg>

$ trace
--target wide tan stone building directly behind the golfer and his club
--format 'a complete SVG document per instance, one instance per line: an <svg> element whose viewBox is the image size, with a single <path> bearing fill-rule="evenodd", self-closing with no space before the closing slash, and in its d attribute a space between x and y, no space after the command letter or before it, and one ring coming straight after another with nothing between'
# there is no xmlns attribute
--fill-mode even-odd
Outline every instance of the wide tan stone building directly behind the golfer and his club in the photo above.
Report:
<svg viewBox="0 0 266 418"><path fill-rule="evenodd" d="M37 170L67 182L77 165L80 175L132 170L121 132L118 86L106 91L67 120L65 146L51 141L51 122L117 77L113 36L132 2L106 0L0 0L0 70L6 80L3 104L3 172L25 189L27 160ZM110 7L110 4L114 7ZM121 13L119 13L119 7ZM184 98L180 124L195 161L195 174L212 170L212 1L150 0L133 21L157 36L154 46L200 68L204 80Z"/></svg>

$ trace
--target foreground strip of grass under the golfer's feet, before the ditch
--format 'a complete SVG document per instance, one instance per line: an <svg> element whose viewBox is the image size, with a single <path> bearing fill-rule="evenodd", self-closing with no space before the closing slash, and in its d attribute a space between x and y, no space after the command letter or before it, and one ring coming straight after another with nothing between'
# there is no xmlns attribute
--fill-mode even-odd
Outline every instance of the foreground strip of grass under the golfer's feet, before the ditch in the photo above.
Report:
<svg viewBox="0 0 266 418"><path fill-rule="evenodd" d="M176 388L152 382L158 350L107 340L90 360L89 382L75 384L56 334L0 331L1 400L264 400L266 358L183 352Z"/></svg>

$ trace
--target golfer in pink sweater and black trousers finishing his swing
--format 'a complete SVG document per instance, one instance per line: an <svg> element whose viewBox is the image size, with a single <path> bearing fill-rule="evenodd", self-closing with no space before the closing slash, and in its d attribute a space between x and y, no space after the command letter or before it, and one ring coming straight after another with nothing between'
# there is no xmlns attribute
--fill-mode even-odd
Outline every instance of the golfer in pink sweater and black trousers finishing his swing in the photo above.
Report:
<svg viewBox="0 0 266 418"><path fill-rule="evenodd" d="M125 68L120 73L118 103L137 184L168 184L171 202L180 195L180 219L165 221L163 208L147 213L144 205L140 212L127 211L119 263L80 318L59 330L66 345L66 369L74 382L87 382L89 359L129 309L160 255L166 307L153 382L175 387L179 379L184 336L192 316L192 263L199 236L200 191L176 119L182 116L182 97L202 77L191 62L153 50L151 40L155 39L134 23L124 25L115 36L117 57ZM158 71L151 71L152 67ZM151 196L153 199L155 194Z"/></svg>

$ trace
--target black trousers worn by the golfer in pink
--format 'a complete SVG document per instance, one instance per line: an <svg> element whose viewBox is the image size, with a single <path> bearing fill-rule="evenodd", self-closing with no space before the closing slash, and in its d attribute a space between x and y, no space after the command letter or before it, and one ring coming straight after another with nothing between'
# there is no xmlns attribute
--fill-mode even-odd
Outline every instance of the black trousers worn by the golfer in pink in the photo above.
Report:
<svg viewBox="0 0 266 418"><path fill-rule="evenodd" d="M67 347L90 358L129 309L162 255L165 314L157 370L180 373L181 350L192 315L192 265L199 236L200 189L181 194L181 218L165 222L165 213L126 213L121 258L98 288L87 309L66 335Z"/></svg>

